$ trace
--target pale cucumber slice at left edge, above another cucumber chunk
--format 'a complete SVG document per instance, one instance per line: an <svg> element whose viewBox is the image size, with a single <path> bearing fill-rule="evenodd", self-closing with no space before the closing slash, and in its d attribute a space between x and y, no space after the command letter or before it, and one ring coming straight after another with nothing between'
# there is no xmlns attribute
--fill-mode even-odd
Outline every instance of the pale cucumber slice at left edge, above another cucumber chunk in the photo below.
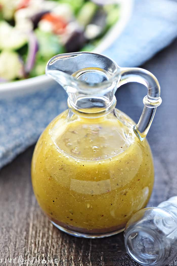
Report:
<svg viewBox="0 0 177 266"><path fill-rule="evenodd" d="M6 21L0 21L0 50L15 50L27 43L27 35L19 29L10 26Z"/></svg>

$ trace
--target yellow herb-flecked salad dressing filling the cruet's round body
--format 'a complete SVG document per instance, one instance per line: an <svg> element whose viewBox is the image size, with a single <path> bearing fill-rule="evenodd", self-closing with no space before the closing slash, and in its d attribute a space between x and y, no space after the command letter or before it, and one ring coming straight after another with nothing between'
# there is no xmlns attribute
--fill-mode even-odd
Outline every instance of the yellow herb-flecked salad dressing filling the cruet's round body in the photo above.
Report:
<svg viewBox="0 0 177 266"><path fill-rule="evenodd" d="M154 181L150 147L127 115L115 113L68 119L64 111L38 140L33 189L57 225L85 233L121 230L146 206Z"/></svg>

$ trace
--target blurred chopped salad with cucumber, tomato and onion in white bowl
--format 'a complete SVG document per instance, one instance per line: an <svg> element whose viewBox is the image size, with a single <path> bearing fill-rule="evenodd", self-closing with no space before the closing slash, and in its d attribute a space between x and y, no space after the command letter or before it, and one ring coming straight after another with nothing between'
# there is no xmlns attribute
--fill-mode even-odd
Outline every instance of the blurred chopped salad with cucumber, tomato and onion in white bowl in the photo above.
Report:
<svg viewBox="0 0 177 266"><path fill-rule="evenodd" d="M66 52L92 51L119 18L105 0L0 0L0 82L45 73Z"/></svg>

